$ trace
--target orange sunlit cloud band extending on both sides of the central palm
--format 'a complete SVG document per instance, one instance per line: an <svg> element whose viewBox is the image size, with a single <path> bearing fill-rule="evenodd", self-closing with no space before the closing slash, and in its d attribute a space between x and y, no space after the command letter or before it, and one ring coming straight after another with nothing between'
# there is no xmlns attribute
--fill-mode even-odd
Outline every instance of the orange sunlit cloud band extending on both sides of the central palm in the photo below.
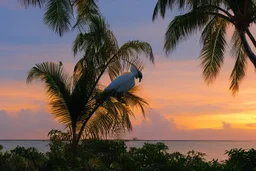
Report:
<svg viewBox="0 0 256 171"><path fill-rule="evenodd" d="M176 131L221 130L225 126L243 130L256 129L256 74L249 65L240 92L234 97L228 90L233 61L227 59L225 63L227 65L217 80L207 86L201 76L199 61L157 57L155 66L146 66L144 69L139 93L150 104L146 113L149 117L144 119L135 111L136 118L132 118L134 131L145 122L151 122L152 111L175 124ZM67 71L72 71L72 64L64 63L64 66ZM109 82L107 77L101 80L101 84L105 86ZM25 80L7 81L3 87L0 90L0 109L9 113L20 109L50 111L42 82L27 85ZM54 118L53 120L56 121Z"/></svg>

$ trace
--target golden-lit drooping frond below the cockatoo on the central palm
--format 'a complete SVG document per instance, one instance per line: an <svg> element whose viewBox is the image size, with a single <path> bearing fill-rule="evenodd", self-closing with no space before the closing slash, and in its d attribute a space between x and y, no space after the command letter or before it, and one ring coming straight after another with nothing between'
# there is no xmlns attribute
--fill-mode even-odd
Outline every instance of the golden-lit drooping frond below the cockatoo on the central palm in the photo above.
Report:
<svg viewBox="0 0 256 171"><path fill-rule="evenodd" d="M122 132L131 131L132 123L130 117L135 116L134 109L139 109L144 115L145 108L148 106L145 99L136 95L138 90L138 86L135 86L124 94L122 101L119 101L115 96L106 98L100 107L90 115L84 133L93 138L99 138L114 134L117 130L122 130ZM80 129L85 118L85 115L83 115L80 119Z"/></svg>

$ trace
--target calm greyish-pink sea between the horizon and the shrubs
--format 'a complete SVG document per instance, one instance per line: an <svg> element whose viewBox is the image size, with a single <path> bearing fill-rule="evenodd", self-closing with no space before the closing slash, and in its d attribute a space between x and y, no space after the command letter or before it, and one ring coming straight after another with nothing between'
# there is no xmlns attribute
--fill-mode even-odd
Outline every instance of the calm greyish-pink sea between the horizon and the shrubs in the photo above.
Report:
<svg viewBox="0 0 256 171"><path fill-rule="evenodd" d="M159 141L127 141L128 147L142 147L143 144L157 143ZM190 150L206 153L206 160L219 159L225 160L227 155L224 155L226 150L232 148L256 149L256 141L160 141L169 147L169 152L178 151L186 154ZM49 141L42 140L0 140L3 145L3 151L11 150L16 146L36 147L41 152L49 150Z"/></svg>

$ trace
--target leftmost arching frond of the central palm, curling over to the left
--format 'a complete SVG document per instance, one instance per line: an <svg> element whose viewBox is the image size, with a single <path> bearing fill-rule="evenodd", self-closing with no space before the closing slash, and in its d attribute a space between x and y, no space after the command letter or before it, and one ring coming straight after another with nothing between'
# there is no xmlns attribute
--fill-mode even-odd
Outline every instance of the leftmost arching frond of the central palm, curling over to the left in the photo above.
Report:
<svg viewBox="0 0 256 171"><path fill-rule="evenodd" d="M52 114L61 123L69 124L72 121L69 108L71 81L62 66L52 62L36 64L28 72L27 83L33 80L45 83Z"/></svg>

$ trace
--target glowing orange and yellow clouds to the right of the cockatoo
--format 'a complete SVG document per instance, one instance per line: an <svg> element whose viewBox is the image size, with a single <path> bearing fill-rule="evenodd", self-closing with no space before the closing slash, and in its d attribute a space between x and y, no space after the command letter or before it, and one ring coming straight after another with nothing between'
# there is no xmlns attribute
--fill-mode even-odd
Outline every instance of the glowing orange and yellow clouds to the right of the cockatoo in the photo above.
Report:
<svg viewBox="0 0 256 171"><path fill-rule="evenodd" d="M233 64L226 59L220 76L208 87L198 61L160 59L156 67L144 72L143 94L161 116L173 118L177 128L219 129L223 121L228 121L233 128L249 129L246 124L254 121L256 112L255 73L249 64L240 92L233 97L228 91Z"/></svg>

